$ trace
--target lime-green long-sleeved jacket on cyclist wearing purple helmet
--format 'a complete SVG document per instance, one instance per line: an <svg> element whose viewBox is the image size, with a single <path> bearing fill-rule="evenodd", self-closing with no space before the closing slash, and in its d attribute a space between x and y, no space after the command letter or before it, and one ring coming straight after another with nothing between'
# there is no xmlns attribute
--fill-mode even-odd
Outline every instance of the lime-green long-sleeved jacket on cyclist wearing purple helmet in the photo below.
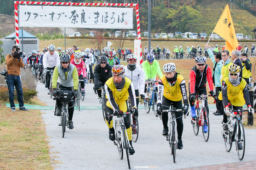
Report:
<svg viewBox="0 0 256 170"><path fill-rule="evenodd" d="M163 73L161 72L159 62L154 60L153 64L150 65L148 61L142 62L142 68L145 73L145 80L153 79L156 77L156 73L159 75L159 77L163 76Z"/></svg>

